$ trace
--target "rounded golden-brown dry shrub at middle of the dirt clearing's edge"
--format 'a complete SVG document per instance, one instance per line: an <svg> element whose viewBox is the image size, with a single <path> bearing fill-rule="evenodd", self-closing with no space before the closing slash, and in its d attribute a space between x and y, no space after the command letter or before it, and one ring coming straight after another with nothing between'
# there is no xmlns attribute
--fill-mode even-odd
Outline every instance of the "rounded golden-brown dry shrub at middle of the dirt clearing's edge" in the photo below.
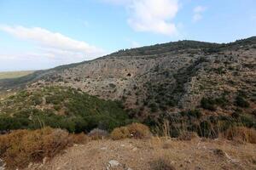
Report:
<svg viewBox="0 0 256 170"><path fill-rule="evenodd" d="M141 123L132 123L126 127L118 127L113 129L111 133L111 139L118 140L118 139L127 139L127 138L134 138L134 139L145 139L151 136L149 127L143 125Z"/></svg>

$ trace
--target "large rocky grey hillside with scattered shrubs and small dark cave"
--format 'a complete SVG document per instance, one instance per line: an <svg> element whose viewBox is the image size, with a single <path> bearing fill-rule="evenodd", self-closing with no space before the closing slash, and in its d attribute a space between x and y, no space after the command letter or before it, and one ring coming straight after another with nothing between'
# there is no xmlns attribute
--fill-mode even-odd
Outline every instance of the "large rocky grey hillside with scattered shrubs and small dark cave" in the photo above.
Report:
<svg viewBox="0 0 256 170"><path fill-rule="evenodd" d="M122 100L130 116L144 121L196 109L207 116L246 114L253 120L252 127L255 65L256 37L227 44L180 41L120 50L99 59L2 80L0 88L67 86L102 99Z"/></svg>

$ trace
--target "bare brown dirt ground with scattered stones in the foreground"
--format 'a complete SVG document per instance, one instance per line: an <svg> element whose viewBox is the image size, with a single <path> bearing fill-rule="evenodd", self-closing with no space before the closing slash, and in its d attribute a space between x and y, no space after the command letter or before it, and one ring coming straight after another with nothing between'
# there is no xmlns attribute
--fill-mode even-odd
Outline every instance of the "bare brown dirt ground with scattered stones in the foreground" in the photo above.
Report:
<svg viewBox="0 0 256 170"><path fill-rule="evenodd" d="M175 169L256 169L256 144L224 139L125 139L75 144L51 161L30 165L40 170L154 170L152 162L165 158ZM167 169L166 169L167 170Z"/></svg>

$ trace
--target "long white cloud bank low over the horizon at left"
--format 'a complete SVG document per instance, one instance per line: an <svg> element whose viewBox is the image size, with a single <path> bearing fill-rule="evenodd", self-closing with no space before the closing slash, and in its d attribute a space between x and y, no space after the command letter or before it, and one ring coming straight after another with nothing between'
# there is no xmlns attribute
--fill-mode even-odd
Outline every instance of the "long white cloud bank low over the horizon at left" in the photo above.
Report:
<svg viewBox="0 0 256 170"><path fill-rule="evenodd" d="M5 50L3 54L2 50L0 62L10 62L10 59L27 61L23 63L20 62L24 68L26 68L26 66L27 68L31 66L46 68L47 65L52 67L95 59L105 54L101 48L96 48L86 42L74 40L61 33L48 31L40 27L0 26L0 31L5 31L14 37L32 42L32 44L36 45L36 48L30 51L16 51L14 53ZM33 65L27 63L33 63ZM40 63L44 63L44 65Z"/></svg>

